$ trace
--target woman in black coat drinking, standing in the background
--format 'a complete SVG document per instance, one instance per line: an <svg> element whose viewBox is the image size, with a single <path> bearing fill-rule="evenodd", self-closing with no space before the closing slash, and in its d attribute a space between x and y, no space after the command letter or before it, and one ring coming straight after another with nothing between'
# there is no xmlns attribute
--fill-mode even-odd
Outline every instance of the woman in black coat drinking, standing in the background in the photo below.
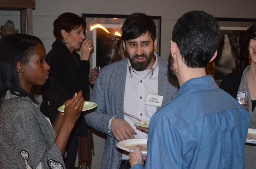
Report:
<svg viewBox="0 0 256 169"><path fill-rule="evenodd" d="M89 100L90 54L92 40L85 39L86 24L83 18L74 13L63 13L53 22L56 40L52 50L46 55L51 66L49 79L43 86L41 111L53 122L63 102L75 92L82 91L84 100ZM76 52L81 49L81 56ZM87 128L81 114L67 144L66 168L74 168L78 150L79 167L90 167L92 160L92 132Z"/></svg>

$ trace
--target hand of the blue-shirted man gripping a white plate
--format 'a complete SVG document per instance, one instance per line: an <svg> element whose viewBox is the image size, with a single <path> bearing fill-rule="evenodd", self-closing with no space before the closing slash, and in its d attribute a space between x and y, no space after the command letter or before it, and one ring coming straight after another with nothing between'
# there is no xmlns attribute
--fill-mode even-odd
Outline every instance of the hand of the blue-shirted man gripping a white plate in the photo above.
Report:
<svg viewBox="0 0 256 169"><path fill-rule="evenodd" d="M134 149L133 149L133 152L131 152L129 154L129 162L130 162L130 165L134 165L134 164L141 164L143 165L142 161L143 159L145 160L146 157L142 157L142 153L141 153L141 149L143 147L141 145L137 145Z"/></svg>

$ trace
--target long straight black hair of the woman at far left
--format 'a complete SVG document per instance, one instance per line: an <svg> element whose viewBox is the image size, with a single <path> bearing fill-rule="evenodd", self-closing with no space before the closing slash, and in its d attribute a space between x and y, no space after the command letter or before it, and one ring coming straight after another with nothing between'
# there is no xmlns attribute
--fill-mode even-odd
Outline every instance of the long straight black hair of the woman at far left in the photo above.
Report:
<svg viewBox="0 0 256 169"><path fill-rule="evenodd" d="M32 98L20 87L16 65L18 61L28 63L37 43L43 45L36 36L19 33L0 39L0 104L8 90L14 95Z"/></svg>

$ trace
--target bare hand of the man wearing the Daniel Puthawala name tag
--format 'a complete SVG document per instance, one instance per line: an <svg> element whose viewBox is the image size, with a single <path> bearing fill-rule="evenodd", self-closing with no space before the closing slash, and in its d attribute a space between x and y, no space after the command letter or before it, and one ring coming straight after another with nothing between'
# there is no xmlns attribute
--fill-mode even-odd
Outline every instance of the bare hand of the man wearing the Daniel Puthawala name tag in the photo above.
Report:
<svg viewBox="0 0 256 169"><path fill-rule="evenodd" d="M126 121L115 117L110 124L111 131L117 141L122 141L130 138L134 138L134 134L137 134L130 124Z"/></svg>

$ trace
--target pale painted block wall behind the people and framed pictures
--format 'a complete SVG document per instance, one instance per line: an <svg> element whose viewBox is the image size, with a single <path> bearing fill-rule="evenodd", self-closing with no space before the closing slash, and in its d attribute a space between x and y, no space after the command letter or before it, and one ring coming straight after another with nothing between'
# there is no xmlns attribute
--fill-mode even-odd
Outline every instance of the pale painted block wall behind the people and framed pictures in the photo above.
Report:
<svg viewBox="0 0 256 169"><path fill-rule="evenodd" d="M43 40L46 53L55 40L52 35L53 20L64 12L125 14L143 12L147 15L162 16L161 57L167 60L172 29L182 14L191 10L203 10L214 17L256 18L256 0L36 0L33 11L33 35ZM0 11L0 24L7 19L14 21L20 29L18 11ZM94 135L95 157L92 169L100 167L104 139Z"/></svg>

